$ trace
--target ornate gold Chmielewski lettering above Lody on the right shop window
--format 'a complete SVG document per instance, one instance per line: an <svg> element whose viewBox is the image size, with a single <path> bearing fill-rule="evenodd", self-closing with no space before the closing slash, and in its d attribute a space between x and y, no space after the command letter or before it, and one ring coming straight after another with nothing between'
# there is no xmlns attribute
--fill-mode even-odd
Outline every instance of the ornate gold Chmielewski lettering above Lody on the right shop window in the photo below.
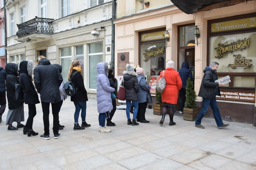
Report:
<svg viewBox="0 0 256 170"><path fill-rule="evenodd" d="M236 39L236 37L233 37L233 39ZM221 59L224 57L227 53L233 53L234 51L242 51L249 48L250 45L250 39L238 39L236 42L231 42L230 44L224 45L219 43L218 47L214 48L216 50L216 53L218 56L215 56L215 58Z"/></svg>

